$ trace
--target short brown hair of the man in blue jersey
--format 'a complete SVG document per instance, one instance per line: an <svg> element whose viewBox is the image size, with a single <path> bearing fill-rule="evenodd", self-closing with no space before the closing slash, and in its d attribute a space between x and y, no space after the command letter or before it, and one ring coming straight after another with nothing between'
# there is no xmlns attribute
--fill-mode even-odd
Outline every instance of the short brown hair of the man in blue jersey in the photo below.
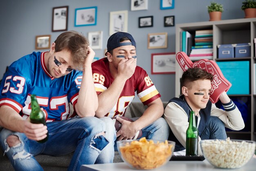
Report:
<svg viewBox="0 0 256 171"><path fill-rule="evenodd" d="M55 40L55 51L68 50L76 70L83 70L85 58L88 56L89 41L76 31L61 33Z"/></svg>

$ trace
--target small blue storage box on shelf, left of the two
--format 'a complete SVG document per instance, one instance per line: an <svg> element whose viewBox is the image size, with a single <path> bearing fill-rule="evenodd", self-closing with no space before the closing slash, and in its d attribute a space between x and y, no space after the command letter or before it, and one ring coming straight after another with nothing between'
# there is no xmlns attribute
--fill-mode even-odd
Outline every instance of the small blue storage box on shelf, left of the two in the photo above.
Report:
<svg viewBox="0 0 256 171"><path fill-rule="evenodd" d="M234 44L219 44L218 58L234 58Z"/></svg>

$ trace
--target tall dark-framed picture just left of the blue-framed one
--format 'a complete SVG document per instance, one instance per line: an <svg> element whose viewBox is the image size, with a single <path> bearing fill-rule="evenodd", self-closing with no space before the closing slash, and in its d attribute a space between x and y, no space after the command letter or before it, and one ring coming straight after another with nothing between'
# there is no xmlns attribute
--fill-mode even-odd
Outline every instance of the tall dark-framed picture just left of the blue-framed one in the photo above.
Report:
<svg viewBox="0 0 256 171"><path fill-rule="evenodd" d="M67 31L68 6L52 9L52 31Z"/></svg>

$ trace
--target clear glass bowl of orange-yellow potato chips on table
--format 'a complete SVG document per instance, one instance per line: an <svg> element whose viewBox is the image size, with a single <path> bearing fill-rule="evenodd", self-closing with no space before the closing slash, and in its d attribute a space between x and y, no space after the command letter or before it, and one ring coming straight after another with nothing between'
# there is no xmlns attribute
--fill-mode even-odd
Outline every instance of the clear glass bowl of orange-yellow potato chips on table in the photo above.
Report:
<svg viewBox="0 0 256 171"><path fill-rule="evenodd" d="M150 170L163 166L171 159L175 142L161 140L119 140L117 149L121 158L132 169Z"/></svg>

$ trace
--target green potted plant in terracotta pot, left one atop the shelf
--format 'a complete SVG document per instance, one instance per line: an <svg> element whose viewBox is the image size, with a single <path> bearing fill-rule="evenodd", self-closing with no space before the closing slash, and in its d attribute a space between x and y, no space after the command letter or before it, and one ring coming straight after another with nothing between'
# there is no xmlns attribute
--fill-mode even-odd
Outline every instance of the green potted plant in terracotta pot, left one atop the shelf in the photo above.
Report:
<svg viewBox="0 0 256 171"><path fill-rule="evenodd" d="M207 6L208 13L210 15L210 21L221 20L221 14L224 11L223 5L217 2L211 2L210 6Z"/></svg>

